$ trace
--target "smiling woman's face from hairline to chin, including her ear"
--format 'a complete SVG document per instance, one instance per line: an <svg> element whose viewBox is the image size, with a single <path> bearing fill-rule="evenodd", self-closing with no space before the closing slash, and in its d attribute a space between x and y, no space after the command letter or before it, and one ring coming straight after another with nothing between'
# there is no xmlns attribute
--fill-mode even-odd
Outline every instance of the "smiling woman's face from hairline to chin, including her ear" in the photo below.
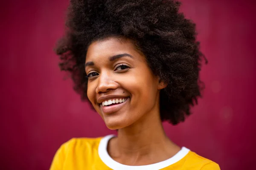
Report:
<svg viewBox="0 0 256 170"><path fill-rule="evenodd" d="M112 37L91 43L85 71L87 96L108 128L128 127L159 111L164 87L131 40Z"/></svg>

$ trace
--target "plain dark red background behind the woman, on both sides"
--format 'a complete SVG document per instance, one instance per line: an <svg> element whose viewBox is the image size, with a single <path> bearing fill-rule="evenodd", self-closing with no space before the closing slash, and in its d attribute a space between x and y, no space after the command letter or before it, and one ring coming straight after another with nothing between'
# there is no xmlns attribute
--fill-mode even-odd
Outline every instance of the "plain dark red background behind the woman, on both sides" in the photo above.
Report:
<svg viewBox="0 0 256 170"><path fill-rule="evenodd" d="M104 136L97 113L72 90L52 51L64 33L67 0L9 0L0 5L0 169L47 170L72 137ZM204 98L168 136L220 164L254 169L256 30L253 0L183 0L209 59Z"/></svg>

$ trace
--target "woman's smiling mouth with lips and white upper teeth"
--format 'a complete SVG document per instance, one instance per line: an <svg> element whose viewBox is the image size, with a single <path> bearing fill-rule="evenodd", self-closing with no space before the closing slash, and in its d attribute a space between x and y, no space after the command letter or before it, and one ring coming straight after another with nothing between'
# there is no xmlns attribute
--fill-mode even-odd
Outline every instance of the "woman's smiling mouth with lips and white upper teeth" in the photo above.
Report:
<svg viewBox="0 0 256 170"><path fill-rule="evenodd" d="M105 100L100 104L100 108L103 113L114 113L119 111L129 101L130 97Z"/></svg>

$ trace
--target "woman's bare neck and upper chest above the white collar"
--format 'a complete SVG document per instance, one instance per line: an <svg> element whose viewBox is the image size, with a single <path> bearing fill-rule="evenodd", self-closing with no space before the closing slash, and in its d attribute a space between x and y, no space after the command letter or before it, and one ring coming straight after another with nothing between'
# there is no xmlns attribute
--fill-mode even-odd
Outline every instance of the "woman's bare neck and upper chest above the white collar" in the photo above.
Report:
<svg viewBox="0 0 256 170"><path fill-rule="evenodd" d="M154 113L148 113L142 120L118 130L117 138L112 139L108 147L112 158L136 158L129 161L134 163L143 157L149 160L158 155L160 160L165 160L177 153L179 147L166 136L160 114Z"/></svg>

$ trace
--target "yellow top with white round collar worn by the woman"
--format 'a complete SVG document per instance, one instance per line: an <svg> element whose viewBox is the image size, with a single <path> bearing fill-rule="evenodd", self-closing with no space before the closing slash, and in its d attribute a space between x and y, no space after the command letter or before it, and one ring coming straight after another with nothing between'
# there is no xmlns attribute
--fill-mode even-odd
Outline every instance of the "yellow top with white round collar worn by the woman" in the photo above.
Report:
<svg viewBox="0 0 256 170"><path fill-rule="evenodd" d="M218 164L186 147L172 158L155 164L120 164L108 155L107 145L112 137L71 139L58 149L50 170L220 170Z"/></svg>

